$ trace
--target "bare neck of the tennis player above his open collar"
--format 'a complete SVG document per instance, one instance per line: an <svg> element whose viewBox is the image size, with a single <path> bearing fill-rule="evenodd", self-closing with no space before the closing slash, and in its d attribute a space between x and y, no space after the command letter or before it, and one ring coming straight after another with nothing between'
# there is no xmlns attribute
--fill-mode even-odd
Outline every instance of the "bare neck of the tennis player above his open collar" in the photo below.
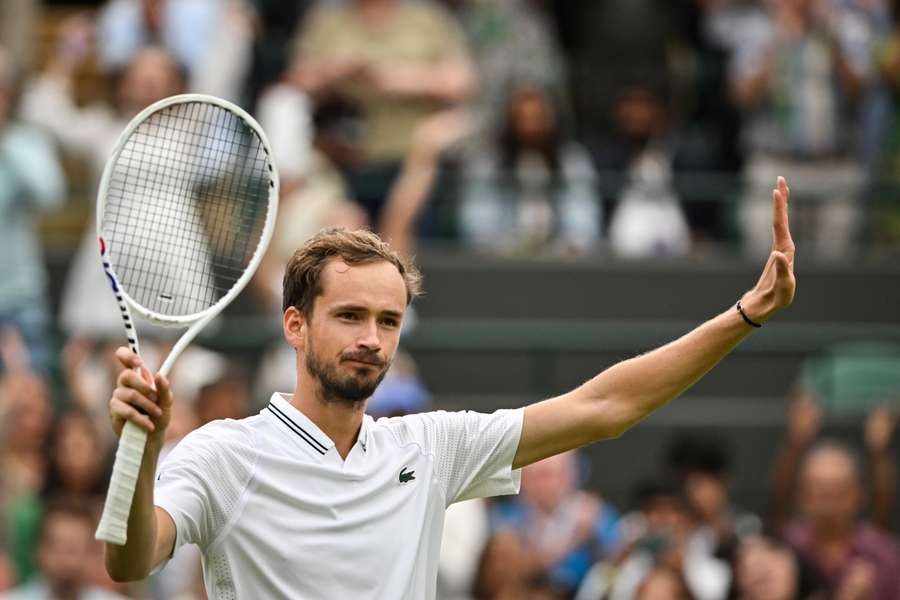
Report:
<svg viewBox="0 0 900 600"><path fill-rule="evenodd" d="M366 412L365 401L324 400L318 393L318 386L309 381L308 376L301 375L297 379L291 404L334 442L341 458L347 458L359 437L363 415Z"/></svg>

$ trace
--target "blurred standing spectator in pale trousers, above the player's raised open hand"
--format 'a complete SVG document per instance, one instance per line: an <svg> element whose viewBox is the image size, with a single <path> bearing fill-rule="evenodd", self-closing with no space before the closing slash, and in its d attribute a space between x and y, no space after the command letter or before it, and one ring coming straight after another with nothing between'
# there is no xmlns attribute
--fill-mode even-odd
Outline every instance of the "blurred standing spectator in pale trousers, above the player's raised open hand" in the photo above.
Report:
<svg viewBox="0 0 900 600"><path fill-rule="evenodd" d="M745 245L767 255L772 173L789 172L815 201L815 255L846 258L856 247L863 181L851 111L868 77L871 33L857 11L824 0L779 0L742 23L732 80L746 115ZM799 198L802 200L803 198ZM794 203L795 213L803 210Z"/></svg>

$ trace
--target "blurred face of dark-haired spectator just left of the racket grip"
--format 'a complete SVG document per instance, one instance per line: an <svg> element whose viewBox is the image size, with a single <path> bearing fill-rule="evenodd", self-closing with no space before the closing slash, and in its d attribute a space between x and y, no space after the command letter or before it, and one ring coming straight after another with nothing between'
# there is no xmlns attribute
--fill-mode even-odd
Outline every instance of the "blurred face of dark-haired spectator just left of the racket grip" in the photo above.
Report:
<svg viewBox="0 0 900 600"><path fill-rule="evenodd" d="M53 460L67 491L79 494L91 491L103 468L103 445L88 417L75 413L63 417Z"/></svg>

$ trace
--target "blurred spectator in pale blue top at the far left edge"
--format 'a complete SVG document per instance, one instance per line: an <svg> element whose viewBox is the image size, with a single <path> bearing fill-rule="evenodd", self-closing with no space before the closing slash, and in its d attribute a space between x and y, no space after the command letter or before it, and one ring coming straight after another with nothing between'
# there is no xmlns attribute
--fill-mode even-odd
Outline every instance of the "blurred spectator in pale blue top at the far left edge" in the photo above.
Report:
<svg viewBox="0 0 900 600"><path fill-rule="evenodd" d="M0 48L0 328L18 330L31 367L46 373L47 274L36 226L41 212L62 203L65 179L50 140L16 120L17 96L16 66Z"/></svg>

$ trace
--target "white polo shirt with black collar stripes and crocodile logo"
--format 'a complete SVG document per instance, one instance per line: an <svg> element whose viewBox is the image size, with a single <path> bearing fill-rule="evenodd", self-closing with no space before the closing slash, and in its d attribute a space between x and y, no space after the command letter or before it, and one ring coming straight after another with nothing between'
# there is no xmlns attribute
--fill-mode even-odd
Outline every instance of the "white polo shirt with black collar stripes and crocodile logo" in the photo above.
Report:
<svg viewBox="0 0 900 600"><path fill-rule="evenodd" d="M447 506L519 490L521 409L366 415L342 460L289 401L197 429L159 468L210 599L434 598Z"/></svg>

